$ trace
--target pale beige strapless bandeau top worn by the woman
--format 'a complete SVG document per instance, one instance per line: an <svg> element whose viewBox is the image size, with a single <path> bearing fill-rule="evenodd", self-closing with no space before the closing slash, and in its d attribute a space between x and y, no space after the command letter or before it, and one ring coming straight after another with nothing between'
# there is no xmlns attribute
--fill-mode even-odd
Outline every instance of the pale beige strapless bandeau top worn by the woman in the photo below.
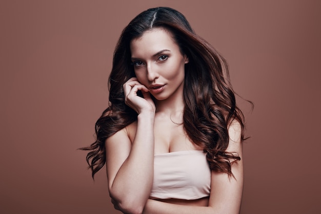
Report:
<svg viewBox="0 0 321 214"><path fill-rule="evenodd" d="M210 195L211 170L203 151L154 155L151 199L193 200Z"/></svg>

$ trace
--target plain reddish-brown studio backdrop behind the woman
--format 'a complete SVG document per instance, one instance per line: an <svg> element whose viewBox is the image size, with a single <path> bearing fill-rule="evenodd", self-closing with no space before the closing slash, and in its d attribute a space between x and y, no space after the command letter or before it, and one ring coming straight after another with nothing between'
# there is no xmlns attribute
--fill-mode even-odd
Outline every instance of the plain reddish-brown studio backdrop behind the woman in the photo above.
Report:
<svg viewBox="0 0 321 214"><path fill-rule="evenodd" d="M170 6L228 60L251 139L242 213L321 213L319 1L1 1L1 213L119 213L85 152L121 30ZM130 179L130 178L129 178Z"/></svg>

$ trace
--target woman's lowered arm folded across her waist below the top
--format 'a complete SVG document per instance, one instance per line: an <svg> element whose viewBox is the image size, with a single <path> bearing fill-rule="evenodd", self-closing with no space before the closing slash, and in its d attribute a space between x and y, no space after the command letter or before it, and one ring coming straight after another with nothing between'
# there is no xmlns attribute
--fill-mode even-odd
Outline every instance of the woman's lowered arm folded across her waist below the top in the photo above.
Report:
<svg viewBox="0 0 321 214"><path fill-rule="evenodd" d="M227 151L238 153L240 161L232 164L233 176L212 172L211 192L207 207L170 204L149 199L145 205L146 214L189 214L189 213L239 213L243 192L243 145L240 139L240 124L234 121L229 127L230 142Z"/></svg>

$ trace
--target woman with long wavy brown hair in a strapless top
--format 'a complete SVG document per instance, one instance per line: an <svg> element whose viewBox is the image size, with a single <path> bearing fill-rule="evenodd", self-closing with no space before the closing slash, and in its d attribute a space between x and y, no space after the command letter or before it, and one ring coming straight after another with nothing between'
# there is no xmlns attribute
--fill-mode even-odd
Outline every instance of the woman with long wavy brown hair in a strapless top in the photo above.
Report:
<svg viewBox="0 0 321 214"><path fill-rule="evenodd" d="M118 40L110 105L86 150L124 213L238 213L244 118L227 63L183 14L137 15Z"/></svg>

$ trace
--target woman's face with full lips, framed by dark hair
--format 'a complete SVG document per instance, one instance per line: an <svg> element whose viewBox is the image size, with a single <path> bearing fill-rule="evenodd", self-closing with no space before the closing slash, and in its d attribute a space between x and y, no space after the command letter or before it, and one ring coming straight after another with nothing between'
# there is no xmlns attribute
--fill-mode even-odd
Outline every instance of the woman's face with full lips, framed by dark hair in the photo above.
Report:
<svg viewBox="0 0 321 214"><path fill-rule="evenodd" d="M146 31L131 41L130 50L138 81L157 100L183 95L188 58L180 52L171 33L161 28Z"/></svg>

